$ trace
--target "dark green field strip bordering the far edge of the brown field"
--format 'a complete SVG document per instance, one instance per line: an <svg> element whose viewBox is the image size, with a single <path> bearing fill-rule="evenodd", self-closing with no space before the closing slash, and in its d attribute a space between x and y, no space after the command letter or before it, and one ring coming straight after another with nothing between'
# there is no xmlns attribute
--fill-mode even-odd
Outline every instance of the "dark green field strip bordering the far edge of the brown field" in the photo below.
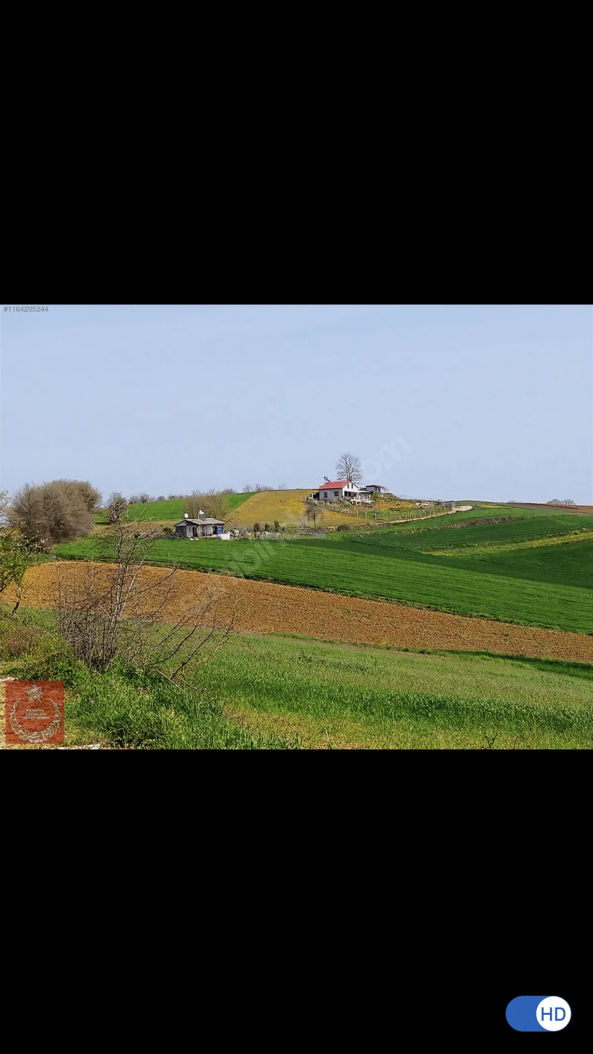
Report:
<svg viewBox="0 0 593 1054"><path fill-rule="evenodd" d="M454 533L462 534L463 530ZM402 534L402 541L411 539ZM586 553L587 543L572 544L571 550L578 546L576 551L579 553L581 545ZM561 548L550 546L549 552L539 549L537 566L520 574L517 573L520 564L517 568L509 560L505 567L496 562L489 566L475 559L463 563L457 557L433 557L413 548L359 544L339 538L297 538L284 544L246 540L228 543L159 540L152 555L157 563L176 562L187 569L226 571L458 614L593 632L591 591L580 585L558 582L562 557L558 558L558 549ZM56 555L108 560L111 551L100 540L90 539L58 546ZM574 573L572 568L571 583Z"/></svg>

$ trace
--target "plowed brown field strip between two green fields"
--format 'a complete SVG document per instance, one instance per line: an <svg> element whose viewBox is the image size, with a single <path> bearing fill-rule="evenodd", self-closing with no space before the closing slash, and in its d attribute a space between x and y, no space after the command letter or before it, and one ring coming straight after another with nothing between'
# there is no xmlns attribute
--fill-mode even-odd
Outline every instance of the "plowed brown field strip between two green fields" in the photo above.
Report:
<svg viewBox="0 0 593 1054"><path fill-rule="evenodd" d="M97 574L113 565L95 564ZM85 573L86 565L59 561L29 568L23 604L54 607L56 577L62 581ZM145 567L143 582L158 582L163 568ZM171 597L160 618L172 622L189 613L213 590L221 596L219 610L230 611L235 600L235 628L246 633L300 633L325 640L361 644L390 644L409 648L449 648L458 651L496 651L593 663L593 637L559 632L488 619L404 607L381 601L339 597L315 589L281 586L250 579L234 579L200 571L177 571ZM6 590L3 600L13 597Z"/></svg>

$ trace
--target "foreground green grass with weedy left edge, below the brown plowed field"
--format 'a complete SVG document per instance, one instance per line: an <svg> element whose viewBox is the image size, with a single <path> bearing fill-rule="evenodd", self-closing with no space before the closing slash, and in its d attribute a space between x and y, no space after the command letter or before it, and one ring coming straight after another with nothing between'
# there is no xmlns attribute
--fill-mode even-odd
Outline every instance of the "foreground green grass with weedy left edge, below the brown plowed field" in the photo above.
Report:
<svg viewBox="0 0 593 1054"><path fill-rule="evenodd" d="M117 664L105 675L85 670L53 635L54 620L33 608L1 619L0 666L3 676L64 681L68 743L593 748L593 667L586 664L237 635L189 668L194 694Z"/></svg>

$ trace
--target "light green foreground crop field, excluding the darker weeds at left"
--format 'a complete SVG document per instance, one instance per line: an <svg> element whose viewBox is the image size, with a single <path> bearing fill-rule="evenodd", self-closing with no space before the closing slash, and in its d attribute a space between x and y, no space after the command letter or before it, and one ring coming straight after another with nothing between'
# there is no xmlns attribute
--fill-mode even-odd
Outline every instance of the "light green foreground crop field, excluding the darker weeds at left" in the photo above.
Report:
<svg viewBox="0 0 593 1054"><path fill-rule="evenodd" d="M235 638L198 683L252 729L288 720L311 744L475 748L494 736L501 747L591 748L592 679L570 664Z"/></svg>

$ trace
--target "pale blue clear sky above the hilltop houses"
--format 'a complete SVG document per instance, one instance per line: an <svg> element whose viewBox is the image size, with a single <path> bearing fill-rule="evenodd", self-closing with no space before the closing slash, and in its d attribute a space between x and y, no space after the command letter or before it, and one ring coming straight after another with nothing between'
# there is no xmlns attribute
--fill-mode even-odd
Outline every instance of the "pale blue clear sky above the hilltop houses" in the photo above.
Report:
<svg viewBox="0 0 593 1054"><path fill-rule="evenodd" d="M2 305L3 307L3 305ZM0 487L363 482L593 503L592 310L48 305L0 315Z"/></svg>

